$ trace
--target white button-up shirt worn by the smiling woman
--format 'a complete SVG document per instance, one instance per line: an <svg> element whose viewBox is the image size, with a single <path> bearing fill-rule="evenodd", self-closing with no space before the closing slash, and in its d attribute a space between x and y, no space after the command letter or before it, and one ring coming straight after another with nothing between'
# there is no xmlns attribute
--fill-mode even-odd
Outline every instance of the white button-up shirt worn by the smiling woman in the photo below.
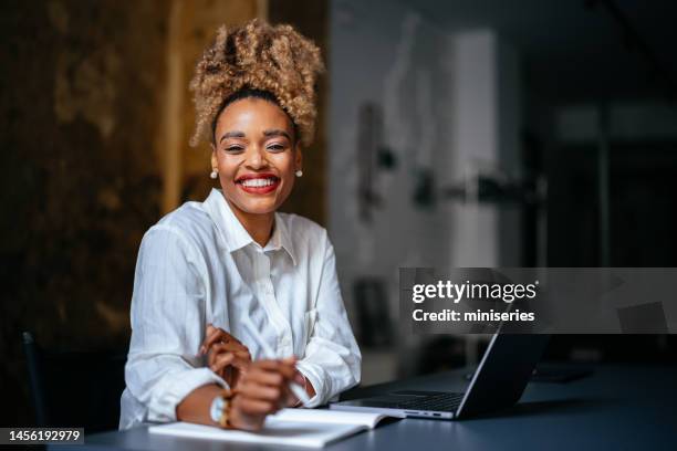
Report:
<svg viewBox="0 0 677 451"><path fill-rule="evenodd" d="M347 319L334 250L326 231L275 213L262 248L231 211L220 190L187 202L146 232L132 297L132 342L125 367L121 429L175 421L192 390L226 382L197 357L207 324L262 357L242 326L249 317L277 357L295 355L319 406L360 381L360 349Z"/></svg>

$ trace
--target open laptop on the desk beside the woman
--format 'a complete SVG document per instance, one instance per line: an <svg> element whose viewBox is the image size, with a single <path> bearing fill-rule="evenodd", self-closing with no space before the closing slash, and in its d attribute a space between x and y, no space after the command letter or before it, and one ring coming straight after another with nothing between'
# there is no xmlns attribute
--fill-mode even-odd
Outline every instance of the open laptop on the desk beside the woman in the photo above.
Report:
<svg viewBox="0 0 677 451"><path fill-rule="evenodd" d="M496 333L464 392L398 390L335 402L330 409L451 420L510 407L522 396L549 339Z"/></svg>

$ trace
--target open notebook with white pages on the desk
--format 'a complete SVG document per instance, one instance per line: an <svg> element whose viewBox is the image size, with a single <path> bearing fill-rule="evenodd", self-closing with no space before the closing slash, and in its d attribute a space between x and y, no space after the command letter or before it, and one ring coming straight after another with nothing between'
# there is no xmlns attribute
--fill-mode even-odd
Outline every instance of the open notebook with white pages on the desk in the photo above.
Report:
<svg viewBox="0 0 677 451"><path fill-rule="evenodd" d="M382 413L367 412L282 409L268 417L263 429L258 432L186 422L152 426L148 432L194 439L322 448L344 437L374 429L385 417Z"/></svg>

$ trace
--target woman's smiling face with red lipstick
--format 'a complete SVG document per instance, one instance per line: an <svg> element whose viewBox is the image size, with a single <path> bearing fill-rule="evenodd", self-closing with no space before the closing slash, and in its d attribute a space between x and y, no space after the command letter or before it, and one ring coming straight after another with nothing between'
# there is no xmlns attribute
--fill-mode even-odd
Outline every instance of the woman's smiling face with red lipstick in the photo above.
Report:
<svg viewBox="0 0 677 451"><path fill-rule="evenodd" d="M272 214L301 169L294 127L272 102L256 97L228 105L218 117L211 167L238 217Z"/></svg>

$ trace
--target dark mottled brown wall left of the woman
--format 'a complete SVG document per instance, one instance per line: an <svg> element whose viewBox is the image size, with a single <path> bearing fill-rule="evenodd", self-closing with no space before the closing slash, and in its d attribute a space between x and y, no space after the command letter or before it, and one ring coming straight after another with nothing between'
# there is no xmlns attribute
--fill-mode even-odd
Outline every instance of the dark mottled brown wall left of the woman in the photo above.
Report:
<svg viewBox="0 0 677 451"><path fill-rule="evenodd" d="M160 214L168 3L2 2L0 386L30 422L21 332L123 346L139 240Z"/></svg>

